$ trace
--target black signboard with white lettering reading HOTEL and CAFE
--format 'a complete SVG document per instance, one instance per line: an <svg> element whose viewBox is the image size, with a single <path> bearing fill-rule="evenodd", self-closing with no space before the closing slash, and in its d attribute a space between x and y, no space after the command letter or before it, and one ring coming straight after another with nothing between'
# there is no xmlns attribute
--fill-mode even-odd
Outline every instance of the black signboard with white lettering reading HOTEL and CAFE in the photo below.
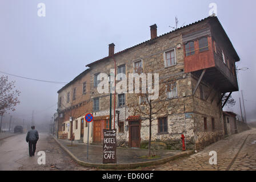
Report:
<svg viewBox="0 0 256 182"><path fill-rule="evenodd" d="M117 163L117 129L103 129L103 164Z"/></svg>

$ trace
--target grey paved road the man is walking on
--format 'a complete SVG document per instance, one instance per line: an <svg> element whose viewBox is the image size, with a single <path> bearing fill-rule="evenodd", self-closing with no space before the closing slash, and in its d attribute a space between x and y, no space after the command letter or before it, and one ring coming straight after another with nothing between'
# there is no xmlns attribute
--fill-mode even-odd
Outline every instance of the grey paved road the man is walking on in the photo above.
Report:
<svg viewBox="0 0 256 182"><path fill-rule="evenodd" d="M46 133L39 134L35 156L30 158L25 138L20 134L0 140L0 170L90 170L75 163ZM45 165L38 164L38 151L45 151Z"/></svg>

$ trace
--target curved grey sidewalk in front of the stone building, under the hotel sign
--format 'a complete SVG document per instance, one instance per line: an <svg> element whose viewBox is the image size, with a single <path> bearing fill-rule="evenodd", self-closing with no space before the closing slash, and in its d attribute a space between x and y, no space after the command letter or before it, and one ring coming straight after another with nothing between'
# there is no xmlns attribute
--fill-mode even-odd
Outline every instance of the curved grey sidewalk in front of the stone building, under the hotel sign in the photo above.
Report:
<svg viewBox="0 0 256 182"><path fill-rule="evenodd" d="M73 143L65 139L57 139L53 137L59 145L79 164L87 167L98 168L117 168L127 169L140 166L150 166L152 164L162 164L182 156L190 155L193 151L174 151L174 150L158 150L152 154L157 158L147 159L148 150L141 148L121 148L117 147L117 164L102 164L103 146L95 146L89 144L89 159L87 160L87 144Z"/></svg>

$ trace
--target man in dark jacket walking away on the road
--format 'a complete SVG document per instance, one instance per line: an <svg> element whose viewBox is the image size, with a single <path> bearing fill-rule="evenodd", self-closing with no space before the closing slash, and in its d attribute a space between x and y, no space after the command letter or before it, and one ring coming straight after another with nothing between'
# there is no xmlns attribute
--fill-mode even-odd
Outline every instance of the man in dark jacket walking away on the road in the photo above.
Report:
<svg viewBox="0 0 256 182"><path fill-rule="evenodd" d="M27 132L26 141L29 142L29 156L35 155L35 147L37 146L37 140L39 139L38 131L35 130L35 126L31 126L31 130Z"/></svg>

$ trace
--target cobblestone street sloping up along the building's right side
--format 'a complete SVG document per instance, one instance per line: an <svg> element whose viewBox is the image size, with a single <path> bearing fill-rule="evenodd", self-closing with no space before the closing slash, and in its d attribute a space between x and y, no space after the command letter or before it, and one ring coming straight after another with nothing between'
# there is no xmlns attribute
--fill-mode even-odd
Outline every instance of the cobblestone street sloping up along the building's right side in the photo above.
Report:
<svg viewBox="0 0 256 182"><path fill-rule="evenodd" d="M210 151L217 152L217 165L209 164ZM142 170L163 171L256 171L256 129L231 135L189 157Z"/></svg>

